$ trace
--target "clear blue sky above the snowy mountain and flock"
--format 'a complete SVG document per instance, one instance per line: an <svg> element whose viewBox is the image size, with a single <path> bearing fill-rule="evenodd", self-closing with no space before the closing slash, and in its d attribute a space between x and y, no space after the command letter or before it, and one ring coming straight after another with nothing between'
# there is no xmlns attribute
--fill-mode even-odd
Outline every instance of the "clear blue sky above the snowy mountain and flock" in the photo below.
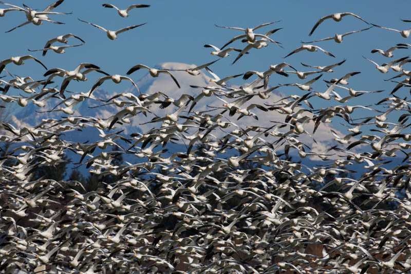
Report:
<svg viewBox="0 0 411 274"><path fill-rule="evenodd" d="M14 5L22 6L23 3L31 8L42 10L51 1L12 1ZM102 3L112 3L120 8L128 7L131 4L150 4L150 8L134 9L130 11L129 17L120 17L114 9L103 8ZM2 5L2 7L4 7ZM344 66L335 69L335 74L324 75L324 79L343 76L350 71L362 71L360 76L353 77L350 81L352 87L357 90L391 89L393 83L377 83L374 79L386 79L394 76L394 72L380 74L375 66L364 60L367 58L381 64L391 61L381 54L371 54L373 48L387 49L397 43L411 43L411 40L404 39L399 33L384 29L372 28L369 31L348 35L342 44L333 41L315 43L324 49L332 52L337 58L331 58L321 52L300 52L283 59L290 51L301 46L300 41L310 41L333 36L335 33L345 33L352 30L366 28L367 25L353 17L347 16L337 23L327 20L321 24L314 34L309 37L308 33L320 17L335 12L352 12L363 17L365 20L378 25L407 29L411 28L410 23L403 23L400 19L411 19L409 1L78 1L66 0L54 11L73 12L71 15L53 15L53 20L66 23L56 25L44 23L41 26L32 24L18 28L10 33L4 31L24 22L26 20L22 12L9 12L5 17L0 17L0 34L2 36L2 51L0 60L12 56L23 56L32 54L39 58L48 68L61 67L67 70L74 69L81 62L95 63L109 74L125 75L125 72L136 64L154 66L163 62L182 62L189 64L203 64L215 60L210 54L211 50L203 48L204 44L213 44L221 47L233 36L240 34L240 31L221 29L214 24L222 26L253 27L261 23L281 20L271 26L260 28L258 32L264 33L273 28L283 27L284 29L272 35L276 41L282 42L285 49L274 44L264 49L253 49L251 54L242 57L234 65L231 65L236 54L220 60L212 66L213 70L221 76L229 76L244 73L247 70L266 70L269 65L289 62L299 70L307 71L300 65L304 62L311 65L328 65L339 62L344 58L347 62ZM77 20L80 18L107 29L117 30L125 26L147 23L139 28L121 33L115 41L108 40L106 34L90 25ZM41 56L41 52L29 52L30 49L40 49L45 42L55 36L74 33L86 41L81 47L69 48L65 54L48 52L46 57ZM69 44L77 44L78 41L71 39ZM234 47L244 47L239 42L232 44ZM410 53L409 50L397 50L394 52L395 58L401 58ZM30 61L27 61L27 63ZM36 63L24 66L9 65L13 73L20 76L32 76L35 79L42 79L44 69ZM145 74L146 72L144 72ZM132 75L134 80L140 79L143 72L135 72ZM2 74L4 75L4 74ZM89 79L97 79L100 75L93 75ZM60 79L58 83L60 84ZM91 80L93 81L93 80ZM271 85L277 83L302 82L296 77L278 78L276 77ZM238 78L234 81L242 84ZM381 84L382 83L382 84ZM86 87L85 87L86 86ZM79 85L87 88L89 85ZM71 85L70 87L77 87ZM291 89L287 89L291 88ZM118 87L116 88L116 91ZM325 90L324 82L318 83L317 91ZM282 92L294 89L285 87ZM86 90L79 90L86 91ZM298 91L297 91L298 92ZM376 100L377 101L377 100ZM356 101L350 101L356 103Z"/></svg>

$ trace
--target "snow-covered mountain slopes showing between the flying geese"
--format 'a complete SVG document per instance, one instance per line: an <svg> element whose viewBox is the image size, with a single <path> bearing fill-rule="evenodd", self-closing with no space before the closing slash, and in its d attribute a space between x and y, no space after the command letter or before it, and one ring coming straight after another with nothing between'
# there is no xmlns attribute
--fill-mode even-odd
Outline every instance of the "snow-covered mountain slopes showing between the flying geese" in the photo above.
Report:
<svg viewBox="0 0 411 274"><path fill-rule="evenodd" d="M195 64L184 64L184 63L162 63L157 66L156 68L162 68L162 69L186 69L189 67L195 67ZM165 74L160 74L159 77L153 78L148 74L148 71L145 69L140 69L136 72L134 72L130 78L132 79L138 79L139 77L140 80L136 81L136 84L138 85L140 91L144 94L153 94L155 92L162 92L166 94L167 96L178 99L182 94L189 94L193 97L198 96L202 92L202 88L192 88L190 85L196 85L196 86L213 86L215 85L214 83L209 82L210 77L206 72L203 72L202 74L198 76L192 76L189 75L188 72L186 71L172 71L172 74L176 77L178 80L181 88L178 88L177 85L174 83L172 78L168 75ZM219 75L221 78L227 77L227 75L220 75L219 72L216 72L217 75ZM276 76L273 75L272 78ZM278 76L281 77L281 76ZM250 79L249 83L254 81L254 77ZM275 80L271 80L272 83ZM91 86L92 83L87 81L88 86ZM107 84L105 84L107 82ZM96 96L97 98L102 99L102 101L97 101L97 100L85 100L83 102L80 102L78 105L76 105L73 109L75 113L71 116L88 116L88 117L95 117L97 119L107 119L111 115L116 114L117 112L121 111L122 108L119 108L115 106L114 104L109 104L105 106L100 106L100 107L95 107L99 105L103 105L105 100L108 100L111 96L114 96L116 93L118 93L118 89L116 88L117 85L111 83L111 86L109 85L108 82L111 81L106 81L101 88L96 89L93 92L93 95ZM125 81L126 82L126 81ZM261 82L262 84L262 82ZM248 85L248 83L246 84ZM110 87L114 87L111 89ZM232 87L237 87L237 86L232 86ZM106 90L116 90L116 92L108 92ZM115 89L116 88L116 89ZM124 92L132 92L134 94L138 94L137 89L133 86L130 85L129 88L126 88ZM302 94L303 95L303 94ZM70 93L66 94L67 97L70 96ZM245 106L251 104L251 103L256 103L260 105L264 105L264 103L272 104L273 102L277 101L282 101L282 98L285 98L286 95L282 94L281 92L277 90L274 90L274 92L271 93L269 99L261 99L258 96L255 96L253 99L248 101ZM223 97L224 100L229 100L226 97ZM61 120L64 117L67 117L68 115L64 114L62 111L58 111L60 107L65 107L64 104L61 104L57 106L59 103L60 99L54 99L51 98L46 101L46 106L45 107L38 107L32 103L29 103L28 106L26 107L18 107L16 109L14 115L12 116L12 123L15 124L16 127L22 127L22 126L27 126L29 125L34 126L38 125L42 122L42 119L57 119ZM104 101L103 101L104 100ZM234 100L234 99L232 99ZM286 100L287 101L287 100ZM222 103L220 100L217 100L214 96L212 97L203 97L201 101L195 107L193 108L193 111L201 112L201 111L206 111L207 109L210 109L210 107L222 107ZM304 104L304 103L303 103ZM56 107L57 106L57 107ZM303 107L307 108L306 105ZM54 109L53 109L54 108ZM51 111L53 109L53 111ZM124 130L122 133L124 136L127 136L132 133L142 133L142 132L147 132L148 130L152 129L154 126L152 123L147 123L150 122L150 120L154 117L153 115L156 115L158 117L163 117L166 113L172 113L177 109L174 105L170 105L166 109L160 109L159 104L152 104L150 106L150 111L153 114L148 113L147 117L144 117L142 114L138 114L135 116L130 124L123 124L123 125L116 125L116 129L114 130ZM46 112L46 111L51 111L51 112ZM223 111L223 109L221 109ZM271 126L273 123L271 121L283 121L283 115L278 114L277 111L269 111L269 112L263 112L258 108L254 108L252 110L258 118L259 118L259 124L261 126ZM214 112L216 113L216 112ZM193 114L193 113L191 113ZM184 114L186 115L186 113ZM312 116L312 114L308 114L308 116ZM247 126L254 125L255 124L255 119L251 116L244 116L241 119L237 120L239 117L239 114L234 115L233 117L226 116L228 118L222 118L223 121L226 122L233 122L236 123L238 126L246 128ZM58 121L56 121L58 122ZM281 125L281 124L279 124ZM304 129L309 132L310 134L313 131L313 126L314 123L312 121L306 123L304 125ZM284 127L280 131L286 132L289 130L289 126ZM304 135L304 138L302 140L307 144L308 146L311 147L313 152L324 152L326 149L330 148L332 145L334 145L336 142L333 140L333 136L331 135L330 130L333 129L332 126L326 124L326 123L321 123L321 125L318 127L316 133L315 133L315 140L314 142L311 137L308 135ZM113 130L113 131L114 131ZM337 132L340 135L344 135L343 133L333 129L335 132ZM91 130L93 132L93 130ZM97 129L94 130L94 132L98 133ZM67 134L67 133L66 133ZM221 129L218 129L216 132L213 132L213 135L216 137L219 136L219 134L222 136L223 134L225 135L226 133L221 132ZM73 142L81 142L81 140L84 140L83 137L84 132L74 132L71 138L73 138ZM100 138L98 137L98 134L95 135L95 138ZM90 142L95 141L95 139L90 139L92 135L87 135ZM182 142L181 142L182 143ZM291 151L292 153L292 151ZM317 158L318 159L318 158Z"/></svg>

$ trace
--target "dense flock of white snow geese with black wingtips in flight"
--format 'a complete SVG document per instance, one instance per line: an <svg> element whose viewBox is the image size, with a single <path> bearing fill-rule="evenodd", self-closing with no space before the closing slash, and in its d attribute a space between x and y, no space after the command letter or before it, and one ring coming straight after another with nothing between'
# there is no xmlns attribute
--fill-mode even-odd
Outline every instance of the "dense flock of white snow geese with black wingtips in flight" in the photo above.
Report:
<svg viewBox="0 0 411 274"><path fill-rule="evenodd" d="M0 2L4 6L0 16L18 16L20 12L26 15L27 21L7 32L30 23L62 24L49 16L70 14L52 11L63 1L43 11ZM133 16L133 9L150 5L132 5L123 10L110 4L103 7L114 8L121 17L127 17ZM301 47L285 57L311 54L304 50L335 57L311 43L342 43L344 36L362 35L370 28L399 32L403 38L408 38L411 31L371 24L356 14L344 12L322 17L309 35L329 19L344 24L346 16L358 19L359 30L308 45L302 42ZM110 40L144 25L111 31L80 21L105 31ZM273 38L281 28L257 33L274 23L277 22L254 28L217 26L241 34L231 38L227 31L228 42L221 48L211 44L204 47L212 48L211 54L219 59L229 57L229 52L238 52L234 64L245 54L252 54L253 49L283 47ZM90 27L90 31L94 29ZM67 50L66 54L70 54L69 48L83 45L83 39L76 34L63 34L48 40L38 51L43 56L49 50ZM68 41L81 44L60 46ZM232 43L240 49L226 48ZM183 93L188 87L180 85L172 69L137 64L123 76L110 75L91 63L81 63L74 70L48 69L31 55L1 61L0 98L5 103L22 107L33 103L42 112L47 100L58 100L53 109L46 111L58 111L62 116L43 119L30 128L16 128L0 121L0 139L12 148L3 150L4 156L0 158L0 271L411 272L411 123L407 122L411 103L401 95L405 88L399 90L411 86L411 71L403 68L411 59L388 59L393 58L394 51L406 52L410 46L399 43L387 50L370 49L389 60L381 65L364 57L376 65L376 77L380 72L400 73L389 79L394 83L392 92L354 90L348 79L359 77L361 71L345 71L345 75L333 71L339 66L343 69L345 60L327 66L303 64L312 71L298 71L295 64L281 63L263 72L250 70L223 78L211 70L217 61L214 60L185 69L192 77L210 74L212 85L192 86L201 92L196 96L182 94L178 99L160 91L145 94L128 77L139 69L147 69L152 77L171 77ZM13 64L38 66L30 64L32 61L46 69L47 79L33 80L10 73L18 68ZM87 81L90 72L103 76L89 90L86 85L87 92L67 92L70 81ZM328 73L334 73L335 78L325 81L326 90L314 90L312 84ZM304 83L270 87L273 74L279 79L296 75L297 81L315 77ZM228 83L240 76L255 80L240 87ZM60 78L60 88L50 87ZM114 83L127 80L137 92L124 92L108 100L98 98L93 91L109 79ZM277 92L274 90L282 86L298 89L294 89L294 95L273 102L272 95ZM292 87L287 90L291 93ZM387 93L388 97L384 97ZM376 95L381 100L373 106L349 105L352 98ZM204 97L214 97L219 105L198 111ZM323 101L323 107L314 109L310 98ZM250 103L251 99L254 103ZM74 106L85 100L102 103L99 107L115 105L119 111L106 119L74 115ZM341 105L332 104L334 100ZM164 115L157 115L158 107L154 106L163 109ZM265 119L261 119L257 109ZM365 112L372 115L364 117ZM271 121L270 126L258 125L261 120L272 120L270 113L281 119ZM244 116L254 118L255 124L239 124L237 120ZM128 136L116 130L140 118L150 119L148 123L153 128ZM304 140L315 142L319 125L332 120L344 121L348 134L341 136L332 130L335 145L321 153L314 152ZM313 130L308 131L309 125ZM365 125L372 127L367 133L375 134L363 134ZM85 128L98 130L100 139L80 143L67 138L67 132ZM77 154L71 161L86 166L98 178L95 189L78 180L56 181L47 175L34 179L36 169L67 161L64 156L68 153ZM120 154L133 156L135 161L116 165L114 159ZM305 157L317 162L304 160ZM399 164L390 166L396 159L400 159ZM352 170L350 166L355 165L361 166L360 171ZM117 179L108 182L108 176Z"/></svg>

